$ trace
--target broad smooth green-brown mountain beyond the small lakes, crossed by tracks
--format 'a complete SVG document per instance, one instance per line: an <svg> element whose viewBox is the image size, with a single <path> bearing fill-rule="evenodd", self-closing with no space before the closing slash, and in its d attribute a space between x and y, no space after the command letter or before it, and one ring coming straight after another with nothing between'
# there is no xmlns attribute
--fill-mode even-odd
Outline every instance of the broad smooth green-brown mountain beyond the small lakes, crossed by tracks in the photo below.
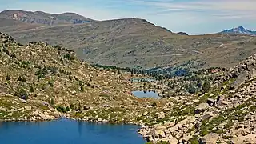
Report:
<svg viewBox="0 0 256 144"><path fill-rule="evenodd" d="M137 18L52 27L0 26L0 30L21 43L58 44L87 62L122 67L230 67L256 52L256 40L249 35L180 35Z"/></svg>

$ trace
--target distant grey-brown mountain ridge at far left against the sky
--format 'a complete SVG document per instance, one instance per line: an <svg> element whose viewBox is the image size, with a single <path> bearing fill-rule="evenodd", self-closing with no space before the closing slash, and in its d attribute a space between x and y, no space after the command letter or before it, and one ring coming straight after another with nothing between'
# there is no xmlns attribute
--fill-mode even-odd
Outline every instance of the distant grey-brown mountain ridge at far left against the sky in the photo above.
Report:
<svg viewBox="0 0 256 144"><path fill-rule="evenodd" d="M94 20L90 18L85 18L74 13L48 14L42 11L31 12L24 10L5 10L0 13L0 18L14 19L20 22L43 24L48 26L94 22Z"/></svg>

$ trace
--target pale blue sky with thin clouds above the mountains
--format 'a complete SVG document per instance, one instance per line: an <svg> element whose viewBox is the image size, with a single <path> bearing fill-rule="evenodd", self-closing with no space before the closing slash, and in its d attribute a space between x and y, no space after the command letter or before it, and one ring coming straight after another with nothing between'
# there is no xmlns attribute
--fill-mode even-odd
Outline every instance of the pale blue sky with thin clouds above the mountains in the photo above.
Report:
<svg viewBox="0 0 256 144"><path fill-rule="evenodd" d="M256 30L256 0L0 0L0 10L75 12L88 18L145 18L189 34L245 26Z"/></svg>

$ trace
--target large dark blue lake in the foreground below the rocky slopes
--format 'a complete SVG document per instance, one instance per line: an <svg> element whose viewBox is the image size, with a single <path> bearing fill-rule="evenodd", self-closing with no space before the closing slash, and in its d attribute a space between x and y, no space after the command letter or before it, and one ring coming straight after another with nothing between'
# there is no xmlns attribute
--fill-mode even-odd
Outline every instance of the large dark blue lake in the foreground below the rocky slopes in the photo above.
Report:
<svg viewBox="0 0 256 144"><path fill-rule="evenodd" d="M58 120L0 122L1 144L144 144L139 126Z"/></svg>

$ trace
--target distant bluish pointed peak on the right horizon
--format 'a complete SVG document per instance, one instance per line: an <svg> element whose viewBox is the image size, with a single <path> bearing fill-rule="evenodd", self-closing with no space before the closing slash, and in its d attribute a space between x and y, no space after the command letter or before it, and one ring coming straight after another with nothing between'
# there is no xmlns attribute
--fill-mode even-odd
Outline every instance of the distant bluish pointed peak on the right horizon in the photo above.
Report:
<svg viewBox="0 0 256 144"><path fill-rule="evenodd" d="M230 30L223 30L221 34L248 34L248 35L256 36L256 31L247 30L242 26L238 26Z"/></svg>

